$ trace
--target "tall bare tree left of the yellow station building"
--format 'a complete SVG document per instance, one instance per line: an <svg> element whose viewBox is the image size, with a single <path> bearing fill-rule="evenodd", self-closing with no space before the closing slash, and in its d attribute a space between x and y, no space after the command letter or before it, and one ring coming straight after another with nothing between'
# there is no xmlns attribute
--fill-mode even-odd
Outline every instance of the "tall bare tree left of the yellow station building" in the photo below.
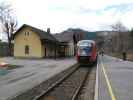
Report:
<svg viewBox="0 0 133 100"><path fill-rule="evenodd" d="M11 55L12 51L12 36L16 31L17 20L14 17L13 9L11 9L10 4L1 3L0 4L0 21L3 25L3 31L7 35L8 39L8 47L9 47L9 55Z"/></svg>

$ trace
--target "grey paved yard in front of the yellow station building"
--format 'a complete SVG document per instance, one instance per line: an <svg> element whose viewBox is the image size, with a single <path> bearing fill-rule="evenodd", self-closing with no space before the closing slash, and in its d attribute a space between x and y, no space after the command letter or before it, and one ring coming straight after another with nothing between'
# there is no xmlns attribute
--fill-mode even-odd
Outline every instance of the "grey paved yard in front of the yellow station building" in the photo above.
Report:
<svg viewBox="0 0 133 100"><path fill-rule="evenodd" d="M76 63L73 58L63 60L1 58L0 60L23 66L0 76L0 100L20 94Z"/></svg>

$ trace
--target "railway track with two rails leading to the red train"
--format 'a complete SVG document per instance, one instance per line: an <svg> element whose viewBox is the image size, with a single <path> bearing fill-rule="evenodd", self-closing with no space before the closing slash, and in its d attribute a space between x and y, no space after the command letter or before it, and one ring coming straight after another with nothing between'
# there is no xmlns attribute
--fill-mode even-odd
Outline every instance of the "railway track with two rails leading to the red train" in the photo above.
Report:
<svg viewBox="0 0 133 100"><path fill-rule="evenodd" d="M88 67L78 67L33 100L76 100L90 70L91 68Z"/></svg>

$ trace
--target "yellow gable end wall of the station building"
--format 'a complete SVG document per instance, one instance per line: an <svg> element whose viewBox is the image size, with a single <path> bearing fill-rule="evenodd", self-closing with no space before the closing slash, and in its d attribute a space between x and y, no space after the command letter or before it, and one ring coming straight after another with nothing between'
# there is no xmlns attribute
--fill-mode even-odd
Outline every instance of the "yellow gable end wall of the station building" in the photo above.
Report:
<svg viewBox="0 0 133 100"><path fill-rule="evenodd" d="M26 47L29 48L29 53L26 53ZM42 57L42 45L40 36L31 31L30 27L23 27L17 31L14 37L14 56L15 57Z"/></svg>

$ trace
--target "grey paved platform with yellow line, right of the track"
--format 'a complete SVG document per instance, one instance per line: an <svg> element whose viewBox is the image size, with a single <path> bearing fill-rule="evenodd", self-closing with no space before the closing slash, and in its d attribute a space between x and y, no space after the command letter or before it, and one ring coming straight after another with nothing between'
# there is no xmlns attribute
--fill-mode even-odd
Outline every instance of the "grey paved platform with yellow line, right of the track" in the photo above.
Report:
<svg viewBox="0 0 133 100"><path fill-rule="evenodd" d="M133 62L100 56L98 100L133 100Z"/></svg>

